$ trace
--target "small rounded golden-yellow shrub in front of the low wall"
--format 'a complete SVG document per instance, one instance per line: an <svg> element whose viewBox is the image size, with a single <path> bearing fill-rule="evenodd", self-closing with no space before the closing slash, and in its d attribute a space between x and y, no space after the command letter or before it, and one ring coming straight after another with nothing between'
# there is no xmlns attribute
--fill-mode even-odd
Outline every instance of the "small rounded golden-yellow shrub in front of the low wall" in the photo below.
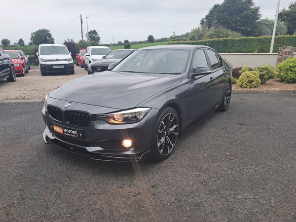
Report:
<svg viewBox="0 0 296 222"><path fill-rule="evenodd" d="M245 88L257 88L260 85L260 82L259 73L255 71L246 71L239 76L237 85Z"/></svg>

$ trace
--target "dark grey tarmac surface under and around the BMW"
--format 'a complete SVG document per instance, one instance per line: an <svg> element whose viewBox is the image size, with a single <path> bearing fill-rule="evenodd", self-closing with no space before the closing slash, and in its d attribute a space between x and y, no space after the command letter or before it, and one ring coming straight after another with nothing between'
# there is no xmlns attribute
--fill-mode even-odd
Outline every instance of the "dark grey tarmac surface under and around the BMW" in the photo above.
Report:
<svg viewBox="0 0 296 222"><path fill-rule="evenodd" d="M45 145L41 101L0 104L0 222L295 222L296 94L235 94L165 161Z"/></svg>

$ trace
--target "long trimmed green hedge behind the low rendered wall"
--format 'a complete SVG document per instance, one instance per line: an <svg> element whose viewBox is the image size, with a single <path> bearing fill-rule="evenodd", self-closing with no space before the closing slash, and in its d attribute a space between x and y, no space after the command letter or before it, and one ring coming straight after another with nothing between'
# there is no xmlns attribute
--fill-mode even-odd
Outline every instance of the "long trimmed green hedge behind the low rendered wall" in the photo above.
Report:
<svg viewBox="0 0 296 222"><path fill-rule="evenodd" d="M207 45L219 53L268 53L270 50L271 37L241 37L219 38L199 41L170 41L168 44L191 44ZM280 47L296 47L296 35L277 36L274 39L273 52L278 52Z"/></svg>

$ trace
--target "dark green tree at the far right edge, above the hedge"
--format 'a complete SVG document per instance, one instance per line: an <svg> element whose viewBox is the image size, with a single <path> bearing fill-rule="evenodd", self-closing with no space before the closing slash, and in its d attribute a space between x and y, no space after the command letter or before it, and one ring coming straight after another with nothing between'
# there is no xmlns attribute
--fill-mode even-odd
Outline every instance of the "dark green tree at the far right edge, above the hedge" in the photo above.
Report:
<svg viewBox="0 0 296 222"><path fill-rule="evenodd" d="M285 22L288 28L288 34L293 35L296 32L296 1L291 3L288 10L285 8L279 12L278 19Z"/></svg>

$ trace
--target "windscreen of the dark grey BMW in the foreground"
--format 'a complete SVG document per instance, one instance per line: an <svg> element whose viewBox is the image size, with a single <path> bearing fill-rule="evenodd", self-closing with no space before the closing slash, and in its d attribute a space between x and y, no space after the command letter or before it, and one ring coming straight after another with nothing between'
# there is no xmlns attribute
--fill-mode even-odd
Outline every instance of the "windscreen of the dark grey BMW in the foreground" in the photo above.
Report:
<svg viewBox="0 0 296 222"><path fill-rule="evenodd" d="M178 49L138 50L112 71L152 74L181 74L188 65L190 51Z"/></svg>

